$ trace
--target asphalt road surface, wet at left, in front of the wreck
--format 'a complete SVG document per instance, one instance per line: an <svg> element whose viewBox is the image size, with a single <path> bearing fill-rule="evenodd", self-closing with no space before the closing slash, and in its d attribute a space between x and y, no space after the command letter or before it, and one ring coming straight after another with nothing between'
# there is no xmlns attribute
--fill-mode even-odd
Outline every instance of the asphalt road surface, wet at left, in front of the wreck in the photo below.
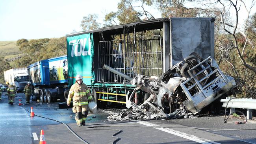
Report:
<svg viewBox="0 0 256 144"><path fill-rule="evenodd" d="M25 102L24 94L18 94L15 102ZM108 113L89 114L86 126L78 127L71 109L59 109L56 103L35 103L29 105L9 105L7 96L0 101L0 144L38 144L40 131L45 131L47 144L83 144L66 126L59 122L30 117L30 107L35 114L55 119L67 124L79 137L90 144L108 144L119 138L117 144L246 144L255 143L256 130L225 131L219 129L255 128L251 121L247 124L235 125L233 122L223 123L221 117L204 117L180 120L148 120L108 122ZM72 114L72 117L70 115ZM96 118L93 118L96 116ZM187 128L186 126L204 129ZM113 137L117 132L120 132ZM34 133L34 134L33 134Z"/></svg>

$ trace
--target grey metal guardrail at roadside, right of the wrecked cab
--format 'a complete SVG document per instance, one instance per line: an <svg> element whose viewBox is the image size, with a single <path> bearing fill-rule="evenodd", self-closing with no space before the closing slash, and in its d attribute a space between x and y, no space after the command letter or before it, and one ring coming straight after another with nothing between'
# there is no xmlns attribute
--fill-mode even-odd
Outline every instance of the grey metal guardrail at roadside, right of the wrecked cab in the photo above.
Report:
<svg viewBox="0 0 256 144"><path fill-rule="evenodd" d="M221 102L223 102L222 107L226 107L228 100L230 98L221 99ZM256 109L256 100L252 98L233 98L228 102L228 106L230 107L230 113L232 113L235 108L240 109L247 109L247 119L252 119L252 109Z"/></svg>

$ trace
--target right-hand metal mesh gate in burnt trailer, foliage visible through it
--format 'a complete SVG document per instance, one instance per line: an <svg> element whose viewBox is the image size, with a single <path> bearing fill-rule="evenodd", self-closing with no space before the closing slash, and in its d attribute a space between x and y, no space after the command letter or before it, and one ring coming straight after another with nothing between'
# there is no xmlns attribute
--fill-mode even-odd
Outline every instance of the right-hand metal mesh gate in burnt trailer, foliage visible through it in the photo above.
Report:
<svg viewBox="0 0 256 144"><path fill-rule="evenodd" d="M137 74L161 76L163 74L163 48L160 35L133 37L131 49L127 52L127 66L133 70L131 77ZM129 63L133 61L133 65ZM132 72L131 72L132 73Z"/></svg>

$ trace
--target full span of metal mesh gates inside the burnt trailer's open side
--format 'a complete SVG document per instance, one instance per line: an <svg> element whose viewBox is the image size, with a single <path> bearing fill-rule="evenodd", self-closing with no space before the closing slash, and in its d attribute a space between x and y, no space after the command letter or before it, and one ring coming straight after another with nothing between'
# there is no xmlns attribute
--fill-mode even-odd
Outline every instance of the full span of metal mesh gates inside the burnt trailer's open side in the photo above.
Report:
<svg viewBox="0 0 256 144"><path fill-rule="evenodd" d="M163 48L160 35L131 37L124 40L99 42L98 81L125 83L124 78L102 69L106 64L134 78L137 74L161 76L163 74Z"/></svg>

